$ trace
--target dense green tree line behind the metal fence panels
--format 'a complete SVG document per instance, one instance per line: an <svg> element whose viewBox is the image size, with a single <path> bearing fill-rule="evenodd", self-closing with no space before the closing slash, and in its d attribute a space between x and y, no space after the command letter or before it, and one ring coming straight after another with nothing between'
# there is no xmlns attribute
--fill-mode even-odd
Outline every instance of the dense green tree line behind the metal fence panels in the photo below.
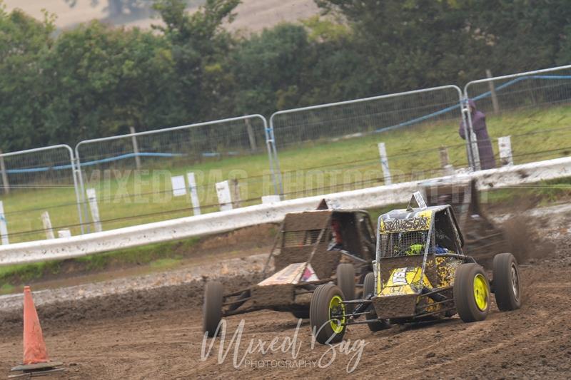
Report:
<svg viewBox="0 0 571 380"><path fill-rule="evenodd" d="M568 0L315 0L321 15L231 33L240 0L157 0L152 30L57 31L0 10L6 151L462 84L571 62Z"/></svg>

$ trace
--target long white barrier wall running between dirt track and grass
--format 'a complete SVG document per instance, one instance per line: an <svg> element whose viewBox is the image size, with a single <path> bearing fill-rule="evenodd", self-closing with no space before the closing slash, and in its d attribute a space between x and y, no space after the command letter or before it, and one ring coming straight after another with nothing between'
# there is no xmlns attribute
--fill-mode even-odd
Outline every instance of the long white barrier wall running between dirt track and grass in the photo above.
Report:
<svg viewBox="0 0 571 380"><path fill-rule="evenodd" d="M565 177L571 177L571 158L505 166L433 180L452 180L463 183L475 178L480 190L486 190ZM3 245L0 247L0 265L68 259L150 243L227 232L261 223L281 222L288 212L314 210L324 197L334 205L343 208L370 208L405 203L410 200L413 192L420 190L423 182L425 180L397 183L377 188L248 206L88 235Z"/></svg>

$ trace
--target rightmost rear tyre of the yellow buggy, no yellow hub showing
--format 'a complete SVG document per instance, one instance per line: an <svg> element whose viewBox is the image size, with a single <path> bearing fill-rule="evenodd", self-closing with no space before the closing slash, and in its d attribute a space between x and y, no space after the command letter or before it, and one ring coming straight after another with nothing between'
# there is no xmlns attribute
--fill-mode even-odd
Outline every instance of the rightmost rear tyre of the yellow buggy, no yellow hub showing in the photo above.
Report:
<svg viewBox="0 0 571 380"><path fill-rule="evenodd" d="M511 253L495 255L492 266L494 294L497 308L502 312L521 306L520 269Z"/></svg>

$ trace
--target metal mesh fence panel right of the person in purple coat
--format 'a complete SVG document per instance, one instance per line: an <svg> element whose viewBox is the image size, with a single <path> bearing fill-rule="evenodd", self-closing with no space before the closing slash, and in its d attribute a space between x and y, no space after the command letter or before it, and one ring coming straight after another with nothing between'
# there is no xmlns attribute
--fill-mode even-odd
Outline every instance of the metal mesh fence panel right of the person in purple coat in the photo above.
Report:
<svg viewBox="0 0 571 380"><path fill-rule="evenodd" d="M495 162L489 155L477 157L477 168L500 165L496 142L508 135L512 163L569 155L571 144L565 135L571 128L571 65L471 81L464 92L466 98L475 101L477 110L485 113L494 150ZM470 128L478 135L482 124L473 122L475 114L467 116ZM480 155L483 145L485 142L478 142Z"/></svg>

